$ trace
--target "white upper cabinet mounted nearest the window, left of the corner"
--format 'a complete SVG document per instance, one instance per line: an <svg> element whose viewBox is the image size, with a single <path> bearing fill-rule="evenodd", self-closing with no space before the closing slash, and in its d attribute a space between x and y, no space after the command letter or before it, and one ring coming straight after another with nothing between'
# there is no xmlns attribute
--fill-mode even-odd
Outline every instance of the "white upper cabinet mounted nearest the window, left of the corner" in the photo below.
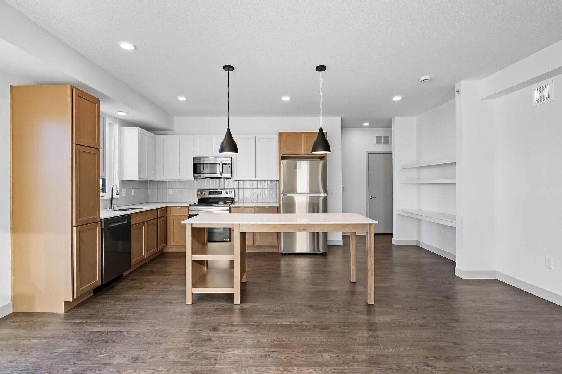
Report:
<svg viewBox="0 0 562 374"><path fill-rule="evenodd" d="M119 179L138 181L155 178L155 135L139 127L123 127L120 132Z"/></svg>

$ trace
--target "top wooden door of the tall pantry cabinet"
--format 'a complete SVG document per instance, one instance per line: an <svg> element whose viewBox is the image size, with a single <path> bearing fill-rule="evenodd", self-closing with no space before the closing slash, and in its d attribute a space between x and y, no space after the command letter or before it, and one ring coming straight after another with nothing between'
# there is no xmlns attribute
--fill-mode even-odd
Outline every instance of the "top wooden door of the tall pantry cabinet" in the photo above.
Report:
<svg viewBox="0 0 562 374"><path fill-rule="evenodd" d="M72 143L99 148L99 99L72 88Z"/></svg>

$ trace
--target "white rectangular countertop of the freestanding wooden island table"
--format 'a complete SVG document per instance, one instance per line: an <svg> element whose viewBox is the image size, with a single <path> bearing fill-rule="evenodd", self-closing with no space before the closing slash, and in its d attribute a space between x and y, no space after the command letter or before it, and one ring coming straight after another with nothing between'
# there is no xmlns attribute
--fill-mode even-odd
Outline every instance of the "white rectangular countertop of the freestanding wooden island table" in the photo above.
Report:
<svg viewBox="0 0 562 374"><path fill-rule="evenodd" d="M234 223L234 224L374 224L374 219L363 217L357 213L201 213L186 219L182 223Z"/></svg>

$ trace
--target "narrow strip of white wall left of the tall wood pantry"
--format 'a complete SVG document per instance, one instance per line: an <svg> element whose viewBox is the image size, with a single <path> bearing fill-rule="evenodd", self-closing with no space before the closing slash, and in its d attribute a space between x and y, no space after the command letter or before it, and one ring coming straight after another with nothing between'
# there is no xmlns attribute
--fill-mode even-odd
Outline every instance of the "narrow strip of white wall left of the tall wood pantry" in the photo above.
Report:
<svg viewBox="0 0 562 374"><path fill-rule="evenodd" d="M10 85L31 84L0 70L0 318L12 312L10 236Z"/></svg>

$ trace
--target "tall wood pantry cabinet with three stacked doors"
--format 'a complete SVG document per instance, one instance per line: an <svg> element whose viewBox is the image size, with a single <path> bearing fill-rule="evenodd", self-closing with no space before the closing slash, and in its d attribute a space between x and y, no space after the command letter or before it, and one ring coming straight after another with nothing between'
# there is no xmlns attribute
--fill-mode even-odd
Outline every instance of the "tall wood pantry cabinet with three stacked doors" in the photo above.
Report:
<svg viewBox="0 0 562 374"><path fill-rule="evenodd" d="M101 284L99 100L10 87L12 310L65 312Z"/></svg>

